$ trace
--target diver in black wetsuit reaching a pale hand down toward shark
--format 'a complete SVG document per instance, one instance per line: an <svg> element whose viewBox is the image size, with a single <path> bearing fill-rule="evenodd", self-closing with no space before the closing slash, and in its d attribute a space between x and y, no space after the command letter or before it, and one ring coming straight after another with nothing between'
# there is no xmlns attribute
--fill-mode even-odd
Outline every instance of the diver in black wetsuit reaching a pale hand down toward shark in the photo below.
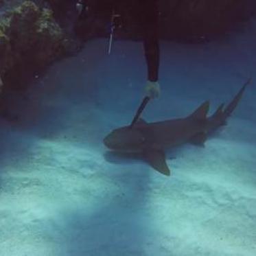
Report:
<svg viewBox="0 0 256 256"><path fill-rule="evenodd" d="M111 36L115 27L121 27L124 16L132 17L132 22L139 28L143 38L143 48L148 68L148 81L145 86L146 96L159 97L159 8L158 0L78 0L76 8L79 19L93 25L97 16L109 13L111 19ZM90 14L93 13L92 15ZM121 17L121 18L120 18ZM110 41L110 43L112 43ZM111 46L111 45L110 45ZM109 48L110 51L110 48Z"/></svg>

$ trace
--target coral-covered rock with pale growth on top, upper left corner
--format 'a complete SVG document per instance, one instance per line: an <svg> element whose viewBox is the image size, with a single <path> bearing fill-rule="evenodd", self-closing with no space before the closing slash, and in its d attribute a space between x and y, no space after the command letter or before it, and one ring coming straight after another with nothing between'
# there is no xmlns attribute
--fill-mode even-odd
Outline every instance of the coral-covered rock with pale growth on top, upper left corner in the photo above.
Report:
<svg viewBox="0 0 256 256"><path fill-rule="evenodd" d="M51 10L33 1L8 11L0 19L0 76L16 89L29 77L66 51L65 34Z"/></svg>

